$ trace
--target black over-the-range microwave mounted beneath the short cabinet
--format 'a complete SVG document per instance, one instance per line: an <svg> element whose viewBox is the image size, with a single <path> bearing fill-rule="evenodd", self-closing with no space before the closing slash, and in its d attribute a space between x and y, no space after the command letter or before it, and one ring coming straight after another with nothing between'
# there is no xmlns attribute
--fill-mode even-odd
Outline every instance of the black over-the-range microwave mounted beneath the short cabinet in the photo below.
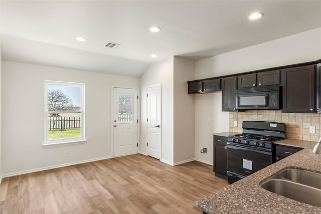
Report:
<svg viewBox="0 0 321 214"><path fill-rule="evenodd" d="M237 89L238 109L281 109L281 87L261 86Z"/></svg>

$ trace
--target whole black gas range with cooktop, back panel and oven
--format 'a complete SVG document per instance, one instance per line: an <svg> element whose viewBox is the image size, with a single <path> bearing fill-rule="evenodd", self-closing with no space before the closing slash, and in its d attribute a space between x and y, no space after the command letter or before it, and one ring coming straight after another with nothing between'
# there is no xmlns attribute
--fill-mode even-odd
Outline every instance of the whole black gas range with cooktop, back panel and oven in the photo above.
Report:
<svg viewBox="0 0 321 214"><path fill-rule="evenodd" d="M228 136L227 177L233 183L274 162L273 142L285 137L285 124L243 121L243 133Z"/></svg>

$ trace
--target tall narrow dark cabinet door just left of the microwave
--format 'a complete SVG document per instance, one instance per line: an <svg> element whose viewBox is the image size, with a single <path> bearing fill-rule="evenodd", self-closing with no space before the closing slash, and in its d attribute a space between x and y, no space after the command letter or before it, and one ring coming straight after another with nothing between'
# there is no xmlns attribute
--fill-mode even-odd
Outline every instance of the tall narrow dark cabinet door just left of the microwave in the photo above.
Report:
<svg viewBox="0 0 321 214"><path fill-rule="evenodd" d="M222 111L237 111L236 77L222 79Z"/></svg>

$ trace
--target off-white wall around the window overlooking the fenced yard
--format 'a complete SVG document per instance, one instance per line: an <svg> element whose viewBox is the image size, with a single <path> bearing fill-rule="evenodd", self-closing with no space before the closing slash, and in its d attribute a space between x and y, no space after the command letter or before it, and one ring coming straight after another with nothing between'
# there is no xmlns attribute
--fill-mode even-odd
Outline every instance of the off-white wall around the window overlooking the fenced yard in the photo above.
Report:
<svg viewBox="0 0 321 214"><path fill-rule="evenodd" d="M7 61L2 66L4 176L112 157L112 85L139 87L138 78ZM43 147L45 80L85 83L86 143Z"/></svg>

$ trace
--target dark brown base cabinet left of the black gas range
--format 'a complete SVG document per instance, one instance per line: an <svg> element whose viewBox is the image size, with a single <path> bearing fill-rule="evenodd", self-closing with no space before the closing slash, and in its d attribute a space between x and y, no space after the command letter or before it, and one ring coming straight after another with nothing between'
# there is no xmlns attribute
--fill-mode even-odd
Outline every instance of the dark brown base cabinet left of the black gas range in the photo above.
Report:
<svg viewBox="0 0 321 214"><path fill-rule="evenodd" d="M227 137L214 135L213 171L215 176L227 179Z"/></svg>

